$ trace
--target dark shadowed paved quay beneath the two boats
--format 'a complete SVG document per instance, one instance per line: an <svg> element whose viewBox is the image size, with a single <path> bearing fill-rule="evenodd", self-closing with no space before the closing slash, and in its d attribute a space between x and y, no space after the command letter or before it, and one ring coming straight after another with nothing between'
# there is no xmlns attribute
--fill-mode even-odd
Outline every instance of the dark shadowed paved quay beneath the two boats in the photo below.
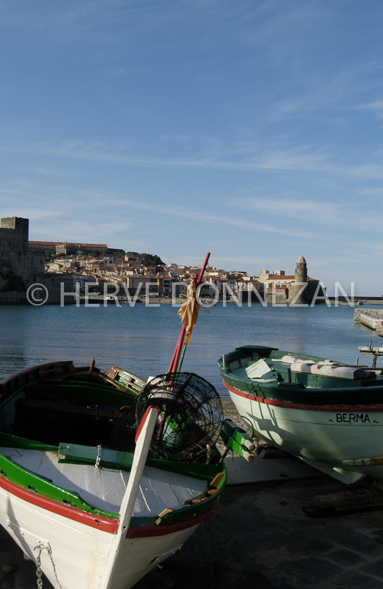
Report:
<svg viewBox="0 0 383 589"><path fill-rule="evenodd" d="M311 517L315 497L350 487L287 454L226 465L216 512L136 589L383 589L383 508ZM0 546L0 588L35 589L36 565L2 528Z"/></svg>

